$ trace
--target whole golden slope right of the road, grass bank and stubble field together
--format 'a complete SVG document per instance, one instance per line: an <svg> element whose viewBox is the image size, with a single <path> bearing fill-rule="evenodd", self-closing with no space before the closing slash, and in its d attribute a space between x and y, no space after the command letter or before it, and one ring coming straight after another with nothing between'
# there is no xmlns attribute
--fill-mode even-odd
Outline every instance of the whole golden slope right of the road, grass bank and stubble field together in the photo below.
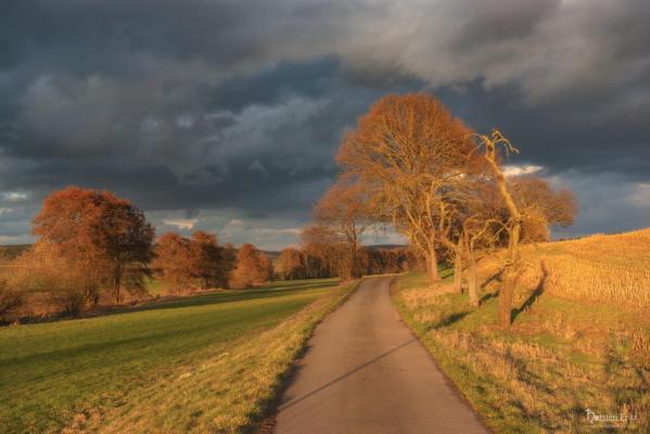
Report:
<svg viewBox="0 0 650 434"><path fill-rule="evenodd" d="M466 294L442 294L417 273L394 284L394 297L496 432L647 432L650 229L528 245L524 257L510 333L495 323L498 278L475 310ZM497 263L480 263L482 281ZM622 430L595 426L587 409L638 419Z"/></svg>

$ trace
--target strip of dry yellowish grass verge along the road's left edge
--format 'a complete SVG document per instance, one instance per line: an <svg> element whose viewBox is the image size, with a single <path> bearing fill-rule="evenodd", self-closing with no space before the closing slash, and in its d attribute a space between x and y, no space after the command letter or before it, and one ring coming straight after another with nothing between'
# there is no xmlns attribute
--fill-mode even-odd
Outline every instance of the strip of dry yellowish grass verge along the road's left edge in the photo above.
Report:
<svg viewBox="0 0 650 434"><path fill-rule="evenodd" d="M333 290L291 319L213 355L182 366L120 400L107 412L88 409L65 433L183 432L240 433L264 416L316 324L349 295Z"/></svg>

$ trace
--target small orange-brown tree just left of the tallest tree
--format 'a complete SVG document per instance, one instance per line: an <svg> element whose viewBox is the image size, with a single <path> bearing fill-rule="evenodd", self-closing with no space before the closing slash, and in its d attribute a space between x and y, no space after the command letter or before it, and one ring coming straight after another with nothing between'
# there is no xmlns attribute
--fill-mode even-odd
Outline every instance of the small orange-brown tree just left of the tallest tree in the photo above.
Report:
<svg viewBox="0 0 650 434"><path fill-rule="evenodd" d="M359 251L361 235L371 224L368 204L361 186L340 178L314 208L316 221L330 227L345 243L339 266L339 273L344 280L358 279L364 273Z"/></svg>

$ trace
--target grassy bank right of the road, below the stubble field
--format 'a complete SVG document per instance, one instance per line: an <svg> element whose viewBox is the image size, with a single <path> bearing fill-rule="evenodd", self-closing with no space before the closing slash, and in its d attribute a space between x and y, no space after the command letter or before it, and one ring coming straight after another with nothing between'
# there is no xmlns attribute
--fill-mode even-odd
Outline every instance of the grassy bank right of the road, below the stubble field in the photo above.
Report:
<svg viewBox="0 0 650 434"><path fill-rule="evenodd" d="M467 295L439 292L423 275L402 277L393 288L407 323L495 432L591 433L620 426L589 423L587 409L634 413L638 420L623 431L646 432L648 316L520 288L513 330L506 333L496 326L494 291L482 293L475 310Z"/></svg>

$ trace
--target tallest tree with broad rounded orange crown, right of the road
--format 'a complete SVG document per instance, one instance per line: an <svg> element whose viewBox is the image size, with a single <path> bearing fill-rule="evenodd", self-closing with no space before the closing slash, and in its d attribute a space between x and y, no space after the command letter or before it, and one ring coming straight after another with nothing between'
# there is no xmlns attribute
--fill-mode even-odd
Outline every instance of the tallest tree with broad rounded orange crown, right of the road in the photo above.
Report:
<svg viewBox="0 0 650 434"><path fill-rule="evenodd" d="M435 98L387 95L348 131L336 161L362 186L375 217L390 221L439 279L436 212L472 169L470 129Z"/></svg>

